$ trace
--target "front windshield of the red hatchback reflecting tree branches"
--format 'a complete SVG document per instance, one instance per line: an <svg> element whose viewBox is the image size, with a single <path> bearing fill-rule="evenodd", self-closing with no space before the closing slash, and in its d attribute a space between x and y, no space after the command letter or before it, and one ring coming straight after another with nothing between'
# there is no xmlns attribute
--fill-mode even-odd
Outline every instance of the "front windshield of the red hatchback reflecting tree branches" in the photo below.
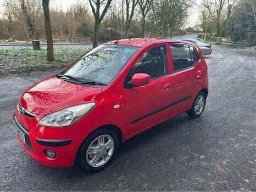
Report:
<svg viewBox="0 0 256 192"><path fill-rule="evenodd" d="M138 47L102 45L92 49L61 75L80 81L109 84Z"/></svg>

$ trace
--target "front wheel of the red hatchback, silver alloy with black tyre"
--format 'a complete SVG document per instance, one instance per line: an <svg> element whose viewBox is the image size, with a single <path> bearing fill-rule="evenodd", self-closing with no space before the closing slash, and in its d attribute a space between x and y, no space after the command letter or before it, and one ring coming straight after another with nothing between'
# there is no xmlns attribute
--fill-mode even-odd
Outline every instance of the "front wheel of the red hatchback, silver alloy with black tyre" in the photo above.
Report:
<svg viewBox="0 0 256 192"><path fill-rule="evenodd" d="M119 138L116 132L110 128L98 129L85 140L80 148L80 166L86 171L100 171L112 162L118 149Z"/></svg>

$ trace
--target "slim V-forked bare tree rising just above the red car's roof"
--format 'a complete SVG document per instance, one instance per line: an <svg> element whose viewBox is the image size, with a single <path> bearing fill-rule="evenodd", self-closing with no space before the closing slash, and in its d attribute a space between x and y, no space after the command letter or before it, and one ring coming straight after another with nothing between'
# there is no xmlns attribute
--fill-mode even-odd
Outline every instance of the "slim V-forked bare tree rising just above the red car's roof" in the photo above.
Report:
<svg viewBox="0 0 256 192"><path fill-rule="evenodd" d="M138 0L125 0L126 3L126 20L125 20L125 38L128 38L132 17ZM131 7L130 7L131 5Z"/></svg>

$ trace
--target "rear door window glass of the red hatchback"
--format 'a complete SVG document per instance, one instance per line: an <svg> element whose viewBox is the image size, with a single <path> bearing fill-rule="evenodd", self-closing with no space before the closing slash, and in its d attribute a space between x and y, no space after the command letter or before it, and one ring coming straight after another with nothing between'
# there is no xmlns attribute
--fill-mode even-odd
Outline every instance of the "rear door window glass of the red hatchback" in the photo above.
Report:
<svg viewBox="0 0 256 192"><path fill-rule="evenodd" d="M196 50L185 44L171 44L171 54L174 71L192 67L198 60Z"/></svg>

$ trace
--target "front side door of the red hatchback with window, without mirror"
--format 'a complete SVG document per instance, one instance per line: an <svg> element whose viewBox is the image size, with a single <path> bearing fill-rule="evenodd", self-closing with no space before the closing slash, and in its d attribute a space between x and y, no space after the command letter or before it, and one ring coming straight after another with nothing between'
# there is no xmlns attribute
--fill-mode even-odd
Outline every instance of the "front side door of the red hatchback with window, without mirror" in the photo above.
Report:
<svg viewBox="0 0 256 192"><path fill-rule="evenodd" d="M171 102L169 98L168 59L166 44L153 47L143 54L132 67L126 82L136 73L148 74L149 84L141 87L125 88L123 110L127 114L127 134L133 134L153 126L163 120L163 109Z"/></svg>

